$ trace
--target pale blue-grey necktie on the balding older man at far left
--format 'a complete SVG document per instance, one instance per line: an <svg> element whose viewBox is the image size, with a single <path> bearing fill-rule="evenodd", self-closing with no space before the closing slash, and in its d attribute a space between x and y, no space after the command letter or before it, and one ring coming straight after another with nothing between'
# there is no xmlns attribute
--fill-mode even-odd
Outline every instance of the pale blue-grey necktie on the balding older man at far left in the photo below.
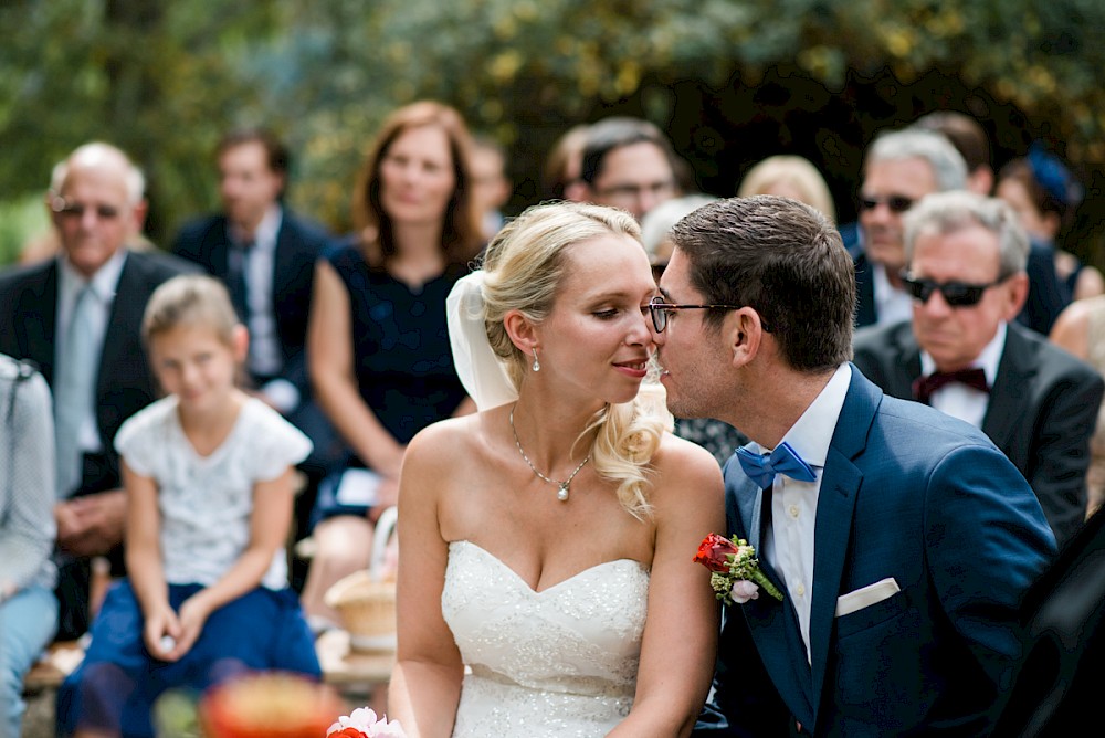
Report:
<svg viewBox="0 0 1105 738"><path fill-rule="evenodd" d="M93 417L99 357L95 345L96 295L92 285L77 294L54 372L54 435L57 441L57 497L67 497L84 472L81 425Z"/></svg>

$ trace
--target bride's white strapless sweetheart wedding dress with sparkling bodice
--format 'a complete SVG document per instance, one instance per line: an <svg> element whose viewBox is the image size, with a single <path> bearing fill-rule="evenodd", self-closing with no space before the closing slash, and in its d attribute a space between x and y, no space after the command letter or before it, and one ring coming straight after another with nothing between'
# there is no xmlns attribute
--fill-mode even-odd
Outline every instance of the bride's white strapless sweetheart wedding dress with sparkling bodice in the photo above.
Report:
<svg viewBox="0 0 1105 738"><path fill-rule="evenodd" d="M445 622L470 667L453 738L604 736L633 706L649 570L607 561L540 592L475 544L449 545Z"/></svg>

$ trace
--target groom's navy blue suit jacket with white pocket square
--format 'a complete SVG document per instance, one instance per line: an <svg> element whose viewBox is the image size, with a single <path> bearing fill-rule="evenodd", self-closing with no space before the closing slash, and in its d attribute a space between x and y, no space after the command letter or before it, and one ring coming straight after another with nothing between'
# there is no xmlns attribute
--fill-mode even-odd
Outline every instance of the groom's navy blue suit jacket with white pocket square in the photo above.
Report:
<svg viewBox="0 0 1105 738"><path fill-rule="evenodd" d="M982 433L852 372L818 498L810 661L788 600L727 608L696 735L787 735L762 725L781 697L815 736L977 736L1009 685L1018 603L1055 550L1035 495ZM770 491L734 461L725 481L730 530L759 549ZM839 597L887 578L899 592L835 616ZM758 661L732 650L747 642Z"/></svg>

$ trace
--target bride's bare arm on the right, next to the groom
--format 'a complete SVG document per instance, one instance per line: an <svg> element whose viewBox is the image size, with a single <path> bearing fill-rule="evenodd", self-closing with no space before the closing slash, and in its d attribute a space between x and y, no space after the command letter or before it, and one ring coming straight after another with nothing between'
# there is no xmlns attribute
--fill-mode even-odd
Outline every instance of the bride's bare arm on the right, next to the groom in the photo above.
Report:
<svg viewBox="0 0 1105 738"><path fill-rule="evenodd" d="M709 572L692 559L706 534L726 533L720 468L672 436L656 461L656 549L636 696L610 736L688 736L714 674L719 605Z"/></svg>

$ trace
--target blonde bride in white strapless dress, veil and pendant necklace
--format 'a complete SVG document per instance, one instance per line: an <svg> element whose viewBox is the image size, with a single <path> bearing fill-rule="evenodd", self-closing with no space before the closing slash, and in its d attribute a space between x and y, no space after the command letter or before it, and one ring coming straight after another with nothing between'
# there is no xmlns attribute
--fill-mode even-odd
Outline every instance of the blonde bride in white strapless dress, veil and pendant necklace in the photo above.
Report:
<svg viewBox="0 0 1105 738"><path fill-rule="evenodd" d="M628 213L529 209L450 297L481 412L421 432L399 494L409 736L686 736L718 608L692 558L724 531L714 458L666 431ZM465 668L467 667L467 668Z"/></svg>

